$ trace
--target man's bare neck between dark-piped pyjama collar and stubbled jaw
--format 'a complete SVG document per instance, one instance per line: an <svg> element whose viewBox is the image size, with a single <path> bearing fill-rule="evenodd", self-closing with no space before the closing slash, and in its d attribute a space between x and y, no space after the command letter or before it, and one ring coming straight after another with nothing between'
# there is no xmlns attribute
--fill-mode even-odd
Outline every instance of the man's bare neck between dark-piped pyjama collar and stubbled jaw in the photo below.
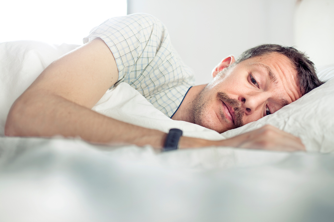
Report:
<svg viewBox="0 0 334 222"><path fill-rule="evenodd" d="M174 113L172 119L195 123L192 112L193 101L196 100L198 94L204 89L205 86L206 84L191 87L180 104L179 109Z"/></svg>

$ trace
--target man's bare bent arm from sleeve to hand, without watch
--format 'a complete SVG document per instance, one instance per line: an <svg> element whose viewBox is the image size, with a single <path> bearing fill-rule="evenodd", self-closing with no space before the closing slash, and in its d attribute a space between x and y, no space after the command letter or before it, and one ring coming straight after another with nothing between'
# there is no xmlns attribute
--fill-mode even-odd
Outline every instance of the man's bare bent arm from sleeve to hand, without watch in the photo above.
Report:
<svg viewBox="0 0 334 222"><path fill-rule="evenodd" d="M95 39L54 61L41 73L13 104L7 117L5 134L80 136L91 142L150 144L161 148L166 133L121 122L91 110L117 80L118 69L113 54L101 39ZM267 127L264 132L269 135L261 137L258 131L221 141L182 137L180 147L225 145L273 148L275 145L268 141L274 141L284 133ZM287 142L282 145L280 140L276 147L293 144L289 146L293 150L303 148L298 138L285 134L283 137Z"/></svg>

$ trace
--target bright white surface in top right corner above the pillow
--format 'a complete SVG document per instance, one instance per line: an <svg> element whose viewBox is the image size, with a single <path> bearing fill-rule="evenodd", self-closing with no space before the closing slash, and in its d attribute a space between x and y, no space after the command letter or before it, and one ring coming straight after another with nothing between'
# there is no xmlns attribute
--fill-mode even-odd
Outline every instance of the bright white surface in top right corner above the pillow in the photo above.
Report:
<svg viewBox="0 0 334 222"><path fill-rule="evenodd" d="M316 66L334 64L334 0L303 0L294 22L297 48Z"/></svg>

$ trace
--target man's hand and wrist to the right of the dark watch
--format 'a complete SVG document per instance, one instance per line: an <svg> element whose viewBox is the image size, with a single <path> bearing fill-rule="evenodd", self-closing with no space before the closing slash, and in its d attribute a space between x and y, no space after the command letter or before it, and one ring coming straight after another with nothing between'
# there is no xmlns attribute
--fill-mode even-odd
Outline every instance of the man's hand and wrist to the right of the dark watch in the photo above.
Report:
<svg viewBox="0 0 334 222"><path fill-rule="evenodd" d="M193 138L181 137L181 147L189 147L192 143L191 139ZM290 133L284 132L272 125L265 125L259 129L246 132L225 140L198 140L197 142L199 146L216 145L276 151L305 151L305 146L303 145L300 138L293 136Z"/></svg>

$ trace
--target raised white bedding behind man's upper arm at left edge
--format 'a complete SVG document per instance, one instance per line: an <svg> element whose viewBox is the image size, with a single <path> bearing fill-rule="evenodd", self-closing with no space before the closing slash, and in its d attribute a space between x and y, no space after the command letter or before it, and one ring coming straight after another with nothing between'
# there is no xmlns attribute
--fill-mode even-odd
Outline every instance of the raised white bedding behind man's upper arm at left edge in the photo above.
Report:
<svg viewBox="0 0 334 222"><path fill-rule="evenodd" d="M0 43L0 135L10 107L54 60L78 45L50 45L36 41Z"/></svg>

